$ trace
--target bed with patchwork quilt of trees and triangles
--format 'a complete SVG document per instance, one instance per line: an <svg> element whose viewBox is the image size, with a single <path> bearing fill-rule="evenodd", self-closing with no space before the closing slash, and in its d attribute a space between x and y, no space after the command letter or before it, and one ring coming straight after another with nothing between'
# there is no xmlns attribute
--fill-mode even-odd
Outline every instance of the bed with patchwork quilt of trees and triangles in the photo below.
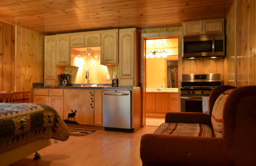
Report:
<svg viewBox="0 0 256 166"><path fill-rule="evenodd" d="M69 131L52 107L35 103L0 103L0 165L9 165L51 145L68 140Z"/></svg>

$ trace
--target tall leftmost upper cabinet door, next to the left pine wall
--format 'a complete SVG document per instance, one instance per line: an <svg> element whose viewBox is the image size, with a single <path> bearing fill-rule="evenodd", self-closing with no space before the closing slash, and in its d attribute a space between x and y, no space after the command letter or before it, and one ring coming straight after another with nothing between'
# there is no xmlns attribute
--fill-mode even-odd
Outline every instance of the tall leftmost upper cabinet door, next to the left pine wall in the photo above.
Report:
<svg viewBox="0 0 256 166"><path fill-rule="evenodd" d="M56 86L56 38L44 40L44 85Z"/></svg>

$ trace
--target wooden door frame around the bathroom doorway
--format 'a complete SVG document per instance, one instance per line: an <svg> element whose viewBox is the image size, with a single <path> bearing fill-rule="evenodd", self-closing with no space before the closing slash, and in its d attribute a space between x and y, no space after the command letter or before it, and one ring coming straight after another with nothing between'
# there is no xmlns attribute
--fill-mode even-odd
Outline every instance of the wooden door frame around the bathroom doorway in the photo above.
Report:
<svg viewBox="0 0 256 166"><path fill-rule="evenodd" d="M146 40L147 39L163 39L170 38L171 36L178 36L179 39L179 82L178 82L178 95L179 95L179 111L180 111L180 87L181 87L181 73L182 73L182 31L172 32L159 32L141 34L140 38L140 82L141 82L141 127L146 125L146 111L145 111L145 95L146 95Z"/></svg>

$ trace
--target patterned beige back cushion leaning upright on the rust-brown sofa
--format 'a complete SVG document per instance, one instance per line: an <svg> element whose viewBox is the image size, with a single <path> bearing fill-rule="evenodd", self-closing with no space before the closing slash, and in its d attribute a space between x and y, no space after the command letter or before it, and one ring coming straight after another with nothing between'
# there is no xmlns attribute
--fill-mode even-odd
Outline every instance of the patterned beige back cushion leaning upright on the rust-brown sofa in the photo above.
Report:
<svg viewBox="0 0 256 166"><path fill-rule="evenodd" d="M223 132L223 124L222 124L222 117L223 117L223 107L228 97L228 94L234 89L228 89L224 91L220 96L216 99L213 109L212 109L212 127L213 133L215 137L222 137Z"/></svg>

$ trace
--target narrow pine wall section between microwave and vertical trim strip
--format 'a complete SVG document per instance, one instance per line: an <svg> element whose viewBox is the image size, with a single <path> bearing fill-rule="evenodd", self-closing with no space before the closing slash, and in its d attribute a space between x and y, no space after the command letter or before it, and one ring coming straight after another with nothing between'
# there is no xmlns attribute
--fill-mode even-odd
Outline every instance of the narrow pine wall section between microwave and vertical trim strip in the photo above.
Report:
<svg viewBox="0 0 256 166"><path fill-rule="evenodd" d="M223 63L223 84L236 86L236 2L226 19L226 56Z"/></svg>

